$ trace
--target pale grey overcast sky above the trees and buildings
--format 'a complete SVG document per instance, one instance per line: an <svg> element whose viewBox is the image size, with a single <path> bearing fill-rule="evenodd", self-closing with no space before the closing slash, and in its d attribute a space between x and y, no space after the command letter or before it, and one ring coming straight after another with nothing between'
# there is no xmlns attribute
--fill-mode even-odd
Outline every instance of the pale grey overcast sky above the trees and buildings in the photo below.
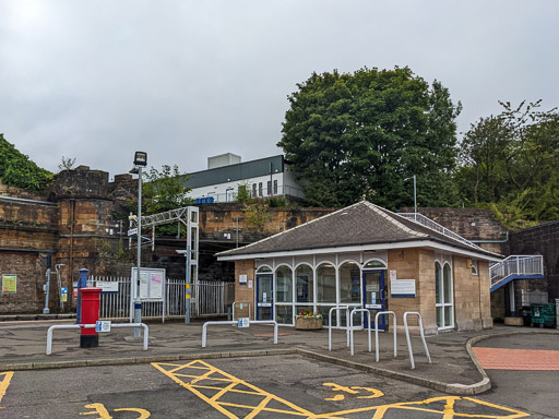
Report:
<svg viewBox="0 0 559 419"><path fill-rule="evenodd" d="M408 65L459 130L498 100L559 105L559 1L0 0L0 132L39 166L206 168L276 147L296 83Z"/></svg>

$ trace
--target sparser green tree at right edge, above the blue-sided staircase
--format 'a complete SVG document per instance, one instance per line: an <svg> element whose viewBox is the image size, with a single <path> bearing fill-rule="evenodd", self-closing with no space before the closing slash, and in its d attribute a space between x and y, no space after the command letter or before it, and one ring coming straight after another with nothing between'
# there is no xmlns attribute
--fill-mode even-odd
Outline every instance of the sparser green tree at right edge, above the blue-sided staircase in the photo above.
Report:
<svg viewBox="0 0 559 419"><path fill-rule="evenodd" d="M493 208L511 229L557 219L559 113L540 100L500 104L501 113L480 118L461 143L461 200Z"/></svg>

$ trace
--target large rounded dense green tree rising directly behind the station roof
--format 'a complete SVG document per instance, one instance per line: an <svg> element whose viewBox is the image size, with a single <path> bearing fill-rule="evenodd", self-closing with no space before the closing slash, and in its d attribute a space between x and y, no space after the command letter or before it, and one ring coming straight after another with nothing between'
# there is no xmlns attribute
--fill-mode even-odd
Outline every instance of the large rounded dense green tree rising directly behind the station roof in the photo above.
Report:
<svg viewBox="0 0 559 419"><path fill-rule="evenodd" d="M455 106L439 82L408 68L313 73L297 85L278 142L300 176L307 202L340 206L361 196L397 208L456 202Z"/></svg>

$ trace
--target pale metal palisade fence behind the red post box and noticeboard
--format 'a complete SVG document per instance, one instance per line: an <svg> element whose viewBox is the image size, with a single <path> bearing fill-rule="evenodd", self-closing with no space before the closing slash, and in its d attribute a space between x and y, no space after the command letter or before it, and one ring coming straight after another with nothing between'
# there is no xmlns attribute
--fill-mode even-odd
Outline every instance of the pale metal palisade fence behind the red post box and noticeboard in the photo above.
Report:
<svg viewBox="0 0 559 419"><path fill-rule="evenodd" d="M93 287L97 280L117 283L116 292L102 292L99 319L130 319L130 277L124 276L91 276L87 286ZM225 296L229 283L207 280L191 284L191 316L227 315ZM186 279L166 280L165 301L143 301L142 319L183 318L186 310Z"/></svg>

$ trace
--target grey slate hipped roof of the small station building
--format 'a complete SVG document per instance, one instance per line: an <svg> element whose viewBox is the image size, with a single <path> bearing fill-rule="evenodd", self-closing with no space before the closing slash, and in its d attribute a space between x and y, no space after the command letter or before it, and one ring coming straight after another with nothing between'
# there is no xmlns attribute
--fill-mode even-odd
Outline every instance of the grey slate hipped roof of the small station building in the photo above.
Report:
<svg viewBox="0 0 559 419"><path fill-rule="evenodd" d="M251 255L417 240L436 241L491 259L500 258L496 253L444 236L441 232L414 223L367 201L358 202L346 208L338 210L242 248L217 253L217 256Z"/></svg>

